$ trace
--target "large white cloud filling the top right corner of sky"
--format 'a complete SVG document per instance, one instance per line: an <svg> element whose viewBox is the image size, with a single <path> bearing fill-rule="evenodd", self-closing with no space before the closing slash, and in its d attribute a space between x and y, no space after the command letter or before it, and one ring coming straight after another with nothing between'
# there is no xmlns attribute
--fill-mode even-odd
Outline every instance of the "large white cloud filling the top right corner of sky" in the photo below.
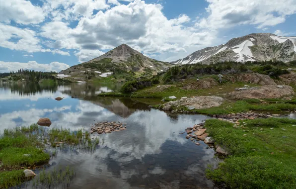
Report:
<svg viewBox="0 0 296 189"><path fill-rule="evenodd" d="M286 16L296 13L296 0L207 0L209 16L200 20L201 28L219 29L240 24L258 28L283 23Z"/></svg>

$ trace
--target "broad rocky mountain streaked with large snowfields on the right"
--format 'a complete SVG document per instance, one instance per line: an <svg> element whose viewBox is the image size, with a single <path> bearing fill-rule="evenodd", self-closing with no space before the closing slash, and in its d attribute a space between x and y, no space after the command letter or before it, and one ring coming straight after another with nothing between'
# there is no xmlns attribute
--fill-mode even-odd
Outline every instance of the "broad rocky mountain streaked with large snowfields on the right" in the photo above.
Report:
<svg viewBox="0 0 296 189"><path fill-rule="evenodd" d="M171 62L174 64L211 64L220 61L269 61L289 62L296 60L296 37L280 37L271 33L252 33L233 38L226 44L207 47L187 57Z"/></svg>

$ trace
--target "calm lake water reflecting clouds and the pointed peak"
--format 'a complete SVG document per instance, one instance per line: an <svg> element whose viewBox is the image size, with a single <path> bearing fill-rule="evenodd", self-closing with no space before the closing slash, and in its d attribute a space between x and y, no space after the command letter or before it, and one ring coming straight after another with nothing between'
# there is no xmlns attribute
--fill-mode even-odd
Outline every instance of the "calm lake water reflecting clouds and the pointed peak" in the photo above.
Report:
<svg viewBox="0 0 296 189"><path fill-rule="evenodd" d="M127 130L100 135L104 143L94 153L59 150L46 170L74 167L76 177L70 189L214 188L205 178L207 165L217 164L214 150L203 142L196 146L179 134L208 117L168 114L149 108L141 99L97 96L120 87L0 84L0 132L36 123L41 117L51 119L50 128L71 130L89 129L100 121L120 121L127 124ZM64 99L55 100L58 96ZM35 172L38 177L38 170Z"/></svg>

